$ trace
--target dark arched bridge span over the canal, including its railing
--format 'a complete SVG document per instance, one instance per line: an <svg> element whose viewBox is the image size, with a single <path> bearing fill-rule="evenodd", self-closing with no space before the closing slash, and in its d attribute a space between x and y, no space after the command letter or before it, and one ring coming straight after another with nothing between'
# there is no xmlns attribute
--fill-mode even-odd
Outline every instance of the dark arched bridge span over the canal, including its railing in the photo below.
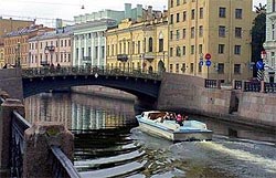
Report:
<svg viewBox="0 0 276 178"><path fill-rule="evenodd" d="M99 67L28 69L22 72L23 97L50 90L72 86L100 85L136 95L138 98L157 101L160 76L141 71L106 70Z"/></svg>

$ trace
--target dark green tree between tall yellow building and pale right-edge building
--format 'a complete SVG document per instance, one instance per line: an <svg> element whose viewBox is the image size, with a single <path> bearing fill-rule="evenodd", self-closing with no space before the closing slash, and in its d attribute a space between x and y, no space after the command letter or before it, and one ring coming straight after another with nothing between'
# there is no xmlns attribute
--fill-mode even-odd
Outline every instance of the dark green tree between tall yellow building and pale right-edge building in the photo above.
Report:
<svg viewBox="0 0 276 178"><path fill-rule="evenodd" d="M266 6L259 3L258 7L255 6L257 17L253 21L252 28L252 62L257 62L261 60L261 52L264 50L264 42L266 38ZM256 76L256 66L254 65L253 75Z"/></svg>

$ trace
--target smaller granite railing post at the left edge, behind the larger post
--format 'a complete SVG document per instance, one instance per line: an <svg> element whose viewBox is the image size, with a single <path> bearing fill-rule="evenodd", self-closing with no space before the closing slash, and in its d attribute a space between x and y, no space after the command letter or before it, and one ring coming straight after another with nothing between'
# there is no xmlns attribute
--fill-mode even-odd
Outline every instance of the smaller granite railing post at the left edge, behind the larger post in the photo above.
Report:
<svg viewBox="0 0 276 178"><path fill-rule="evenodd" d="M11 115L13 111L18 111L24 116L22 102L20 100L7 98L0 107L0 168L2 170L10 168Z"/></svg>

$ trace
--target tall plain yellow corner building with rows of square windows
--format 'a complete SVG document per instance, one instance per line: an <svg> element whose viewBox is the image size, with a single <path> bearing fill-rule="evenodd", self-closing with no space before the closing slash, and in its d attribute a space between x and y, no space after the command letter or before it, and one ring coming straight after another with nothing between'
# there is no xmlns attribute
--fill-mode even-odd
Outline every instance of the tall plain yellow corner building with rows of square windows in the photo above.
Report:
<svg viewBox="0 0 276 178"><path fill-rule="evenodd" d="M169 0L169 71L222 83L251 77L252 21L252 0Z"/></svg>

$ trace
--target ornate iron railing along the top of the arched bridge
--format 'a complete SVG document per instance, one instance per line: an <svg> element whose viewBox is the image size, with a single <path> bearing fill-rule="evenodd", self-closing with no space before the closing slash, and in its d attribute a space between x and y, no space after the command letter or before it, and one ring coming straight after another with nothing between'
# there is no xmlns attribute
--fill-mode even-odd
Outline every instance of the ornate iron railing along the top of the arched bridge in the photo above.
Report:
<svg viewBox="0 0 276 178"><path fill-rule="evenodd" d="M62 66L62 67L30 67L22 70L23 77L64 76L64 75L115 75L132 76L149 80L161 80L161 73L141 69L105 67L105 66Z"/></svg>

